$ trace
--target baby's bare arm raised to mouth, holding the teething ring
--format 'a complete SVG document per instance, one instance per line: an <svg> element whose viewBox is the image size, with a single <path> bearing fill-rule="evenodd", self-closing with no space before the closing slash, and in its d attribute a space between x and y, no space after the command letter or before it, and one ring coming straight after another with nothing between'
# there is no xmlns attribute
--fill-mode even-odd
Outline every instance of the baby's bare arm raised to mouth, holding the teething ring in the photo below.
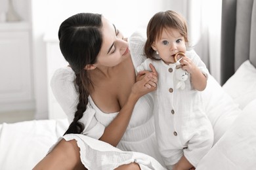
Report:
<svg viewBox="0 0 256 170"><path fill-rule="evenodd" d="M180 62L182 69L190 73L192 86L198 91L205 90L207 77L202 73L202 71L200 71L190 58L183 57Z"/></svg>

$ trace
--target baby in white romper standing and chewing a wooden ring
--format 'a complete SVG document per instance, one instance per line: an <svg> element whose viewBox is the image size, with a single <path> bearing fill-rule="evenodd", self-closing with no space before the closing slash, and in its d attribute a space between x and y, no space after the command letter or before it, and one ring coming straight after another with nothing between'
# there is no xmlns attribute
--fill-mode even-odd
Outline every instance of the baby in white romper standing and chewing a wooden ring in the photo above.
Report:
<svg viewBox="0 0 256 170"><path fill-rule="evenodd" d="M148 23L144 51L147 59L137 72L158 71L154 116L158 147L168 169L190 169L209 152L213 128L200 91L209 72L194 51L187 51L186 20L174 11L156 13Z"/></svg>

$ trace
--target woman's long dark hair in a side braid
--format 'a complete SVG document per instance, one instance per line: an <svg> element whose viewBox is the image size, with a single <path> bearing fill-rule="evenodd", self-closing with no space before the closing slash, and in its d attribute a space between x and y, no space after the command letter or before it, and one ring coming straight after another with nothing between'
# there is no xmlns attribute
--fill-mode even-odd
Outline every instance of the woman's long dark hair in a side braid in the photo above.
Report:
<svg viewBox="0 0 256 170"><path fill-rule="evenodd" d="M91 79L85 65L96 62L102 46L102 15L79 13L64 20L58 30L60 50L75 72L75 84L79 92L79 103L74 120L64 133L82 133L84 126L79 119L87 109Z"/></svg>

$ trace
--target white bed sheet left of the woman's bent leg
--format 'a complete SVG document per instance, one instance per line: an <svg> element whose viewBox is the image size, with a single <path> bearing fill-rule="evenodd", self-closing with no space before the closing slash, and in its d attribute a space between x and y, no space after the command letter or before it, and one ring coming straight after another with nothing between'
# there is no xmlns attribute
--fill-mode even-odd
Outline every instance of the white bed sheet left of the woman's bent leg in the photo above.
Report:
<svg viewBox="0 0 256 170"><path fill-rule="evenodd" d="M67 119L1 124L0 169L32 169L67 127Z"/></svg>

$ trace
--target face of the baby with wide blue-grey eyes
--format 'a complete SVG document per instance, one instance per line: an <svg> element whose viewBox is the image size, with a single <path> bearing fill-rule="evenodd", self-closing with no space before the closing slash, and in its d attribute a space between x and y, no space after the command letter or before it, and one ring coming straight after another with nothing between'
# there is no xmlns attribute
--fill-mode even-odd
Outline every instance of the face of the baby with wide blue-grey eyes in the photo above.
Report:
<svg viewBox="0 0 256 170"><path fill-rule="evenodd" d="M154 41L152 48L158 51L166 64L169 64L175 62L174 56L177 52L186 52L186 42L177 29L169 27L163 29L160 39Z"/></svg>

